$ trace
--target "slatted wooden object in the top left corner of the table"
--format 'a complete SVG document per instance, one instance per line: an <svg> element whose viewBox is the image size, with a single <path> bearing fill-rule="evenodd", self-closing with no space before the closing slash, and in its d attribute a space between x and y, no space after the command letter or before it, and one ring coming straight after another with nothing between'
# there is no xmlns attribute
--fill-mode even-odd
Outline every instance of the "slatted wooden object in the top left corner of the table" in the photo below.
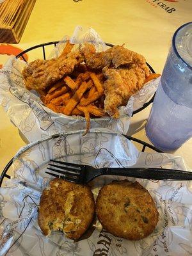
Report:
<svg viewBox="0 0 192 256"><path fill-rule="evenodd" d="M19 43L35 2L5 0L0 4L0 43Z"/></svg>

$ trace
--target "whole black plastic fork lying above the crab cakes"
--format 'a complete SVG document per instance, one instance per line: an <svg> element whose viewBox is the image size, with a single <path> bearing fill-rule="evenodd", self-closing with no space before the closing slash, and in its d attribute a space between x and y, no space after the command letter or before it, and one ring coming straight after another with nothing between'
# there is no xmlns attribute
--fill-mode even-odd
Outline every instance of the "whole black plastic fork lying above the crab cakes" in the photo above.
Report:
<svg viewBox="0 0 192 256"><path fill-rule="evenodd" d="M161 168L100 168L83 164L50 160L46 172L54 177L76 183L88 183L100 175L118 175L150 180L192 180L192 172ZM58 165L59 164L59 165ZM56 174L59 173L59 174Z"/></svg>

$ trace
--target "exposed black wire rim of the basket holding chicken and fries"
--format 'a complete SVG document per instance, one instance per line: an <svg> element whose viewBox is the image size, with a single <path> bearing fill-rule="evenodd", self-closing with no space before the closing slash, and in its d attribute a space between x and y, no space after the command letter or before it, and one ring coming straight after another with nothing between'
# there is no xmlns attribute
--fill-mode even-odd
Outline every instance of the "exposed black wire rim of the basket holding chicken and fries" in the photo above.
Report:
<svg viewBox="0 0 192 256"><path fill-rule="evenodd" d="M54 42L48 42L48 43L45 43L45 44L38 44L38 45L35 45L35 46L33 46L33 47L30 47L30 48L26 49L25 51L20 52L20 53L16 56L16 58L17 58L17 59L18 59L18 58L22 58L24 61L28 62L28 61L26 60L26 58L24 58L24 54L25 54L26 52L33 51L33 50L35 50L35 49L37 49L37 48L42 48L42 56L38 56L38 58L41 58L41 57L42 57L42 58L44 58L44 60L46 60L46 58L47 58L46 47L47 47L48 45L52 45L53 47L55 47L56 44L58 44L58 42L59 42L59 41L54 41ZM109 47L113 47L113 46L114 46L113 44L109 44L109 43L106 43L106 45L108 45ZM148 63L147 63L147 65L148 65L148 68L150 69L150 71L151 71L152 73L156 73L156 72L154 71L154 69L153 69ZM140 112L141 110L147 108L147 106L150 105L150 104L154 101L154 97L155 97L155 94L153 95L153 97L152 97L150 100L148 100L148 102L146 102L145 104L143 104L143 106L142 106L141 108L136 109L135 111L133 111L132 115L134 115L134 114Z"/></svg>

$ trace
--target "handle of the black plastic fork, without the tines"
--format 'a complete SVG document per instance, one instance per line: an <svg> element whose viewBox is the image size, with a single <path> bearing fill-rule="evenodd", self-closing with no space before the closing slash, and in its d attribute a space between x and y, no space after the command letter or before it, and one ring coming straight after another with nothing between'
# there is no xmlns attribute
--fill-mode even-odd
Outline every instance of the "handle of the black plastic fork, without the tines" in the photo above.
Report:
<svg viewBox="0 0 192 256"><path fill-rule="evenodd" d="M103 168L102 174L150 180L192 180L192 172L160 168Z"/></svg>

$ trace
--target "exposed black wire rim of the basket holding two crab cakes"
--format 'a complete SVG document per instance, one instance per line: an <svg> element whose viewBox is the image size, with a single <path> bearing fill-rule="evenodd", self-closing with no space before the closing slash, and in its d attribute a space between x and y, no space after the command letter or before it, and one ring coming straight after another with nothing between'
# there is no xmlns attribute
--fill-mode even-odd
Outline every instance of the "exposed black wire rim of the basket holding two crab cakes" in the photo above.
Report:
<svg viewBox="0 0 192 256"><path fill-rule="evenodd" d="M163 151L159 150L158 148L146 143L145 141L141 141L141 140L138 140L136 138L133 138L131 136L128 136L128 135L124 135L125 138L127 138L128 140L130 141L134 141L134 144L136 145L136 147L139 145L140 148L141 148L141 152L148 152L148 150L150 150L150 152L158 152L158 153L163 153ZM9 168L12 166L12 163L13 163L13 159L14 157L9 161L8 164L6 164L3 172L1 173L1 177L0 177L0 188L1 188L1 185L3 183L4 180L6 179L11 179L10 175L7 174Z"/></svg>

